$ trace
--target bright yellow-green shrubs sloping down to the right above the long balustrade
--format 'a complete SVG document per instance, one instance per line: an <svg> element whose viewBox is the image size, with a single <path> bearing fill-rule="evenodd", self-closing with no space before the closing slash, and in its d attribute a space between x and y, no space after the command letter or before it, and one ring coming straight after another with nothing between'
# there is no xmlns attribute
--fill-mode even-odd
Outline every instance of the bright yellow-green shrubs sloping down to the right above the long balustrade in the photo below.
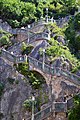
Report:
<svg viewBox="0 0 80 120"><path fill-rule="evenodd" d="M54 57L64 56L65 58L70 60L72 64L72 69L74 69L72 70L73 72L80 69L79 60L77 60L76 57L73 54L71 54L67 46L62 46L61 44L56 42L54 39L50 40L50 44L51 46L46 49L46 53L49 57L52 56L52 59L53 59Z"/></svg>

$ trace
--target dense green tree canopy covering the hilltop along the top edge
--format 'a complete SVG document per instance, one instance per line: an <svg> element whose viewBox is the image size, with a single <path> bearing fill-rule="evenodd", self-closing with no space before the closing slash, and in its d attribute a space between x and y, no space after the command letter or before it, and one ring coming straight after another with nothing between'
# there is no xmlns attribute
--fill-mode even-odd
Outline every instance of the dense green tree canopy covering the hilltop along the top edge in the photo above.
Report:
<svg viewBox="0 0 80 120"><path fill-rule="evenodd" d="M0 17L12 27L20 27L45 17L46 8L54 18L74 14L77 4L76 0L0 0Z"/></svg>

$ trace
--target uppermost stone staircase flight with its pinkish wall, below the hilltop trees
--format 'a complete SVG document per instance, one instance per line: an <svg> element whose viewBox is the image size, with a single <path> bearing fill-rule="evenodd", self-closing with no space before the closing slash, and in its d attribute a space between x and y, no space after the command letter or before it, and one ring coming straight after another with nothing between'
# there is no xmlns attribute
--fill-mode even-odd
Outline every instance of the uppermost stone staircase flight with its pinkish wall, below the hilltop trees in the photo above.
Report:
<svg viewBox="0 0 80 120"><path fill-rule="evenodd" d="M67 22L70 19L70 17L74 17L74 16L70 15L65 18L60 18L58 20L48 18L48 22L56 22L58 25L60 25L62 23ZM44 30L44 26L48 24L48 22L46 22L46 19L40 19L37 22L30 24L30 28L22 27L22 28L12 29L7 22L3 22L2 19L0 19L0 29L5 30L6 32L10 32L11 34L27 33L28 31L31 31L34 33L37 33L37 32L40 33Z"/></svg>

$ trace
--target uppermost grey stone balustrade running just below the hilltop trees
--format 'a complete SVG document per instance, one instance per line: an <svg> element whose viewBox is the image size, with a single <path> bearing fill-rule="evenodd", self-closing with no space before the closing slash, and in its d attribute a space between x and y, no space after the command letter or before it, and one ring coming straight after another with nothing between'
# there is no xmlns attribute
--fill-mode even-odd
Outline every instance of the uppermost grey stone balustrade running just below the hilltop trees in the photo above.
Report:
<svg viewBox="0 0 80 120"><path fill-rule="evenodd" d="M65 18L59 18L58 20L54 20L53 18L48 18L48 22L56 22L57 24L59 23L65 23L67 20L70 19L70 17L74 17L74 16L67 16ZM36 26L42 26L44 24L47 24L46 22L46 19L40 19L38 20L37 22L34 22L32 24L30 24L30 28L28 27L25 27L24 29L23 28L14 28L12 29L11 26L7 23L7 22L3 22L1 19L0 19L0 29L3 29L7 32L10 32L11 34L18 34L18 33L27 33L27 31L30 29L33 29L35 28Z"/></svg>

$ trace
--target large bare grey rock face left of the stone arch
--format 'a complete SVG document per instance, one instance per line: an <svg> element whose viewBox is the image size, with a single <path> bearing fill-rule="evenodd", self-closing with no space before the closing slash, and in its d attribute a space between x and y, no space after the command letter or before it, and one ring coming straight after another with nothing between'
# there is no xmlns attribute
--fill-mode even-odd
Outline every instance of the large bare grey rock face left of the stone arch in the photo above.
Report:
<svg viewBox="0 0 80 120"><path fill-rule="evenodd" d="M10 82L8 77L13 78ZM13 80L12 79L12 80ZM4 84L4 91L0 100L1 120L22 120L24 114L23 102L31 96L31 86L24 76L16 72L14 68L4 63L0 58L0 82Z"/></svg>

